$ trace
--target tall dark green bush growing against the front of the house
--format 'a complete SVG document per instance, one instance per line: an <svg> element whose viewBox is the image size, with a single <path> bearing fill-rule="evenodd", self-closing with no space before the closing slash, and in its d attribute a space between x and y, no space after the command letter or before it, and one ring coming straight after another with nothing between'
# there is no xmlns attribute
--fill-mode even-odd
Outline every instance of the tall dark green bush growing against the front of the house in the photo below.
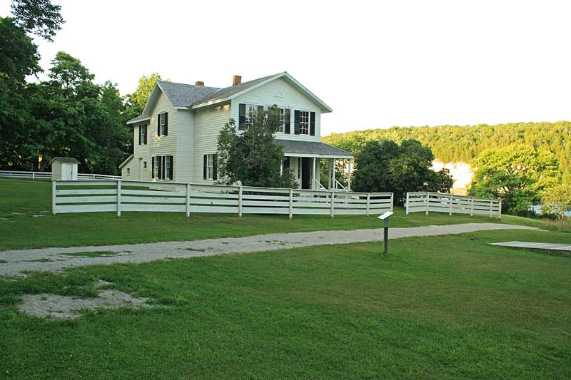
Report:
<svg viewBox="0 0 571 380"><path fill-rule="evenodd" d="M281 145L273 135L280 125L279 109L251 115L253 123L238 130L230 119L218 136L218 181L231 185L266 188L293 188L295 179L289 168L280 170L284 160Z"/></svg>

